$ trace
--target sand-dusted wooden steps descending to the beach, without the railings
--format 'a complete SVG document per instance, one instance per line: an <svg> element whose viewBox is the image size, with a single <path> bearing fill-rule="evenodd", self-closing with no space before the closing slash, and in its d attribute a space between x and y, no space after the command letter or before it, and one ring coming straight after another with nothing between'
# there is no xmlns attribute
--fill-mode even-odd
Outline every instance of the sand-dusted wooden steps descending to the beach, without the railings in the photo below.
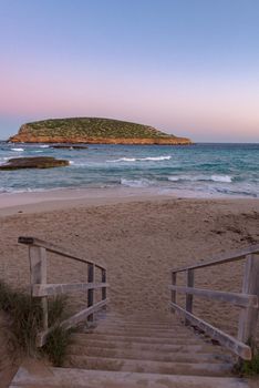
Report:
<svg viewBox="0 0 259 388"><path fill-rule="evenodd" d="M21 367L10 388L247 388L232 376L235 359L175 316L107 314L95 328L74 334L64 368Z"/></svg>

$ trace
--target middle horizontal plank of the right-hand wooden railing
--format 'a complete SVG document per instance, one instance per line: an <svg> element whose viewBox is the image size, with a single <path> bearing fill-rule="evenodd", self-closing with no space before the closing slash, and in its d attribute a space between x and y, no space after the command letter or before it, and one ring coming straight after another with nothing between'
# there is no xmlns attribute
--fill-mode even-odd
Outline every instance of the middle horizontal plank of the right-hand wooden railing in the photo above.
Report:
<svg viewBox="0 0 259 388"><path fill-rule="evenodd" d="M256 295L227 293L227 292L218 292L218 290L193 288L193 287L182 287L182 286L169 286L169 289L175 289L177 293L180 293L180 294L190 294L190 295L196 295L198 297L227 302L239 307L252 307L252 308L259 307L258 297Z"/></svg>

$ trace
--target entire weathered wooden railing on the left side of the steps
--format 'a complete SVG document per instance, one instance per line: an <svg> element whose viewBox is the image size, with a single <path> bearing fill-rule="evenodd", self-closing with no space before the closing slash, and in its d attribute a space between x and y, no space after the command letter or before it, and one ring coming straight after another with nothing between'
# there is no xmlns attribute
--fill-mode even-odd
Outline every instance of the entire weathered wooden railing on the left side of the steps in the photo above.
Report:
<svg viewBox="0 0 259 388"><path fill-rule="evenodd" d="M87 292L87 307L72 317L63 320L60 326L64 329L69 329L72 326L76 326L79 323L87 319L93 320L93 314L105 307L107 304L106 288L106 268L77 257L65 249L41 241L34 237L19 237L19 243L29 246L29 259L30 259L30 276L31 276L31 295L35 298L41 298L42 306L42 330L37 336L37 346L41 347L45 344L48 335L56 327L53 325L49 327L48 319L48 297L59 294L69 294L74 292ZM87 265L87 282L86 283L68 283L68 284L48 284L46 283L46 252L51 252L63 257L71 258L72 261L81 262ZM101 283L95 283L95 272L101 270ZM101 300L95 303L95 289L102 289Z"/></svg>

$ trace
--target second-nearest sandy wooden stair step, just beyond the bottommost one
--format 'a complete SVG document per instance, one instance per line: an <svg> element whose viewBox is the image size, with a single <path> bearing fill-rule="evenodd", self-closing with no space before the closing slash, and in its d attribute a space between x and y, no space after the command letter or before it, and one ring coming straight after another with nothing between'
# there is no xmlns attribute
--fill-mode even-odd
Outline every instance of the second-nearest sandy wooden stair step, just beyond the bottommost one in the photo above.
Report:
<svg viewBox="0 0 259 388"><path fill-rule="evenodd" d="M228 363L160 363L151 360L135 360L126 358L105 358L89 356L72 356L70 361L64 364L66 367L76 368L135 371L149 374L174 374L174 375L203 375L203 376L226 376L231 372L232 364Z"/></svg>

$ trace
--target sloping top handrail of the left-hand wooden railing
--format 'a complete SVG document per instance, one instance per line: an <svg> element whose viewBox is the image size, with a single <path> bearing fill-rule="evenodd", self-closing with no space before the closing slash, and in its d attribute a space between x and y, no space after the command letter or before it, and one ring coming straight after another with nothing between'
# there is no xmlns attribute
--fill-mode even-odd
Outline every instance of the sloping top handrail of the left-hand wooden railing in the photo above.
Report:
<svg viewBox="0 0 259 388"><path fill-rule="evenodd" d="M81 263L85 263L85 264L95 264L95 263L93 263L91 261L86 261L86 259L84 259L82 257L73 255L69 251L63 249L62 247L60 247L58 245L54 245L54 244L51 244L51 243L46 243L46 242L44 242L43 239L40 239L40 238L21 236L21 237L18 238L18 243L25 244L25 245L29 245L29 246L32 245L32 246L44 247L49 252L59 254L59 255L64 256L64 257L72 258L73 261L76 261L76 262L81 262ZM102 265L95 264L95 266L97 268L100 268L100 269L105 269L105 267L102 266Z"/></svg>

